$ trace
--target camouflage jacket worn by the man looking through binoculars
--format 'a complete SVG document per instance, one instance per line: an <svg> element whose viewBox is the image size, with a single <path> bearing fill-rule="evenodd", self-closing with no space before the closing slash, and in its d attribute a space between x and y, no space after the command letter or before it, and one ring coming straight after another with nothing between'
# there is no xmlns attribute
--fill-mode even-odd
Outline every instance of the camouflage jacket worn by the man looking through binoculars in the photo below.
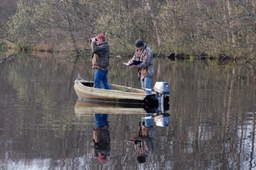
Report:
<svg viewBox="0 0 256 170"><path fill-rule="evenodd" d="M97 45L96 41L91 42L91 49L93 52L92 68L99 68L102 70L108 69L109 66L109 45L108 42Z"/></svg>

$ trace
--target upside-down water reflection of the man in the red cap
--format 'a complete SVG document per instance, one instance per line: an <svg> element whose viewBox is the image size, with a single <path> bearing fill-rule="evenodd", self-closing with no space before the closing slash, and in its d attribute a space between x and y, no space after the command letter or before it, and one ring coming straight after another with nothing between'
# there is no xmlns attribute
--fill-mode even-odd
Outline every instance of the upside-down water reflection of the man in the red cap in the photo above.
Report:
<svg viewBox="0 0 256 170"><path fill-rule="evenodd" d="M110 132L108 130L108 114L94 114L95 126L93 129L94 148L93 158L100 162L105 162L106 157L110 155Z"/></svg>

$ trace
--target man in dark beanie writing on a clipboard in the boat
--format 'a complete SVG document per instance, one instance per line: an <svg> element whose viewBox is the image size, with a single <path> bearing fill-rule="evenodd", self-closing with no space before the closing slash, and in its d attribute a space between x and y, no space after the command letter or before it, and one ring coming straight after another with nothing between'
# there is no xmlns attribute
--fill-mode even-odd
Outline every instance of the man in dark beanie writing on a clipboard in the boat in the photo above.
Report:
<svg viewBox="0 0 256 170"><path fill-rule="evenodd" d="M137 39L135 42L136 51L128 64L131 64L133 60L142 61L138 65L130 65L131 68L138 69L138 78L141 83L141 88L151 89L151 80L154 74L153 66L153 53L151 49L141 39ZM151 91L145 90L145 94L151 94Z"/></svg>

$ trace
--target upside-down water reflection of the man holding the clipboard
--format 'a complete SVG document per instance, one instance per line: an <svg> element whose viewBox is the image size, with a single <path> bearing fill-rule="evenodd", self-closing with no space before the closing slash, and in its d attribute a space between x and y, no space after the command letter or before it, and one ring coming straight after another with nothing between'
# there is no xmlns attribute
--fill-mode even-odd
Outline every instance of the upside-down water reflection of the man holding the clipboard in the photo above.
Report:
<svg viewBox="0 0 256 170"><path fill-rule="evenodd" d="M154 127L152 126L151 114L143 114L138 127L138 137L131 137L137 152L136 160L139 164L146 162L146 158L153 154Z"/></svg>

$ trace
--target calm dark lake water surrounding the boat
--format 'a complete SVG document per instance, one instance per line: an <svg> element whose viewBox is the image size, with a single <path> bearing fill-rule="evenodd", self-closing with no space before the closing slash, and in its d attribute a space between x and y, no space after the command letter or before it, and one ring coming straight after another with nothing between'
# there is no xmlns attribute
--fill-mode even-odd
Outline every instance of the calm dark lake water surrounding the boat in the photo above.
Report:
<svg viewBox="0 0 256 170"><path fill-rule="evenodd" d="M91 58L0 54L1 170L255 170L256 71L216 61L154 58L156 81L170 85L169 125L152 117L153 150L136 161L143 108L77 101L79 73L93 79ZM111 58L109 83L140 88L136 70ZM153 114L154 112L152 112ZM106 160L94 158L94 114L107 114ZM151 115L152 116L152 115ZM100 147L99 147L100 148Z"/></svg>

